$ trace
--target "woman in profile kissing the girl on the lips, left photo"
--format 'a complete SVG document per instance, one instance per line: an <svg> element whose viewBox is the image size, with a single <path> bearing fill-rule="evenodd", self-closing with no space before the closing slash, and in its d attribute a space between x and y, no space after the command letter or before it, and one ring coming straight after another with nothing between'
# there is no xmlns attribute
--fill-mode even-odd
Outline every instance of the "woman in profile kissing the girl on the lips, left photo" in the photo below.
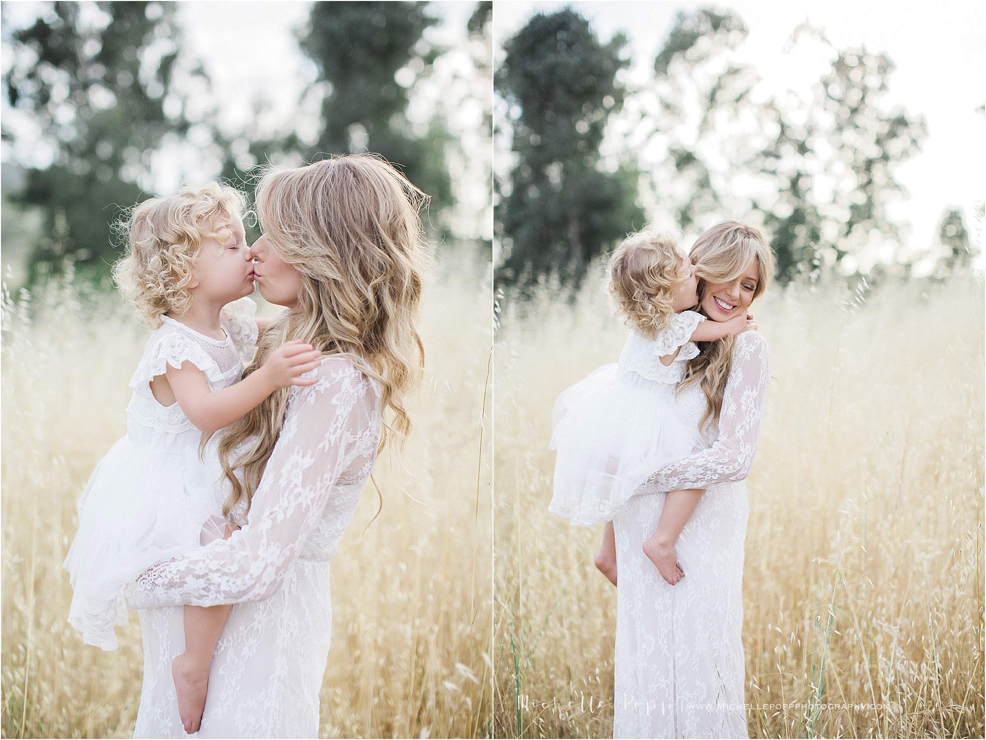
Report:
<svg viewBox="0 0 986 740"><path fill-rule="evenodd" d="M172 680L182 604L237 605L216 648L199 736L317 737L328 560L387 432L409 429L402 398L424 358L421 202L372 156L272 169L257 186L264 234L251 248L254 279L288 311L262 333L246 373L300 339L323 352L312 371L319 380L275 393L219 441L232 490L224 514L246 514L246 526L129 587L144 640L136 737L185 736Z"/></svg>

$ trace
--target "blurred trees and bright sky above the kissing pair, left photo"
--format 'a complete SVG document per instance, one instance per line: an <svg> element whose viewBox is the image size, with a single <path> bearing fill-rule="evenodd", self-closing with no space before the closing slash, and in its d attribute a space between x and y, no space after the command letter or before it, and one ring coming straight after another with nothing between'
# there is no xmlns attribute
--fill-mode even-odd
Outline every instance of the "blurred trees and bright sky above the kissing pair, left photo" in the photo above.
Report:
<svg viewBox="0 0 986 740"><path fill-rule="evenodd" d="M445 247L490 226L491 6L12 2L3 9L3 263L104 276L120 210L256 168L377 152ZM255 231L248 235L256 236Z"/></svg>

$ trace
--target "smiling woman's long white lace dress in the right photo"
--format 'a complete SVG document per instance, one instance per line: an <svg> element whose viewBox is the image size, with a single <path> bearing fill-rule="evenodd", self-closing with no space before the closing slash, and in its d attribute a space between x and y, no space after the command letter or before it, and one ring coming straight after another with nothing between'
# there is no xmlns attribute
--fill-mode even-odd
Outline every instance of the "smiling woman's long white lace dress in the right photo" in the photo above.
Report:
<svg viewBox="0 0 986 740"><path fill-rule="evenodd" d="M747 737L743 706L743 543L746 482L769 381L759 333L737 337L718 438L661 468L613 519L617 589L613 737ZM697 385L677 397L698 424ZM670 586L642 551L665 496L708 486L678 539L685 577Z"/></svg>

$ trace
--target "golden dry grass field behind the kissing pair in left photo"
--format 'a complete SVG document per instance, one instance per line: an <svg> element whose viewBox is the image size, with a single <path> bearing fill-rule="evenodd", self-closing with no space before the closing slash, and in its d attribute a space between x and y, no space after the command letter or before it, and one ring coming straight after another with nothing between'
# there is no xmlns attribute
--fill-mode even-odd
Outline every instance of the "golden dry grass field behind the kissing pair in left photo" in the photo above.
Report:
<svg viewBox="0 0 986 740"><path fill-rule="evenodd" d="M321 737L492 731L490 288L488 263L463 264L426 293L412 474L384 454L374 475L383 513L364 532L377 509L368 484L332 560ZM143 662L136 614L117 651L84 645L66 621L61 563L76 499L125 432L147 332L115 297L82 308L73 285L13 299L3 316L2 734L130 737Z"/></svg>

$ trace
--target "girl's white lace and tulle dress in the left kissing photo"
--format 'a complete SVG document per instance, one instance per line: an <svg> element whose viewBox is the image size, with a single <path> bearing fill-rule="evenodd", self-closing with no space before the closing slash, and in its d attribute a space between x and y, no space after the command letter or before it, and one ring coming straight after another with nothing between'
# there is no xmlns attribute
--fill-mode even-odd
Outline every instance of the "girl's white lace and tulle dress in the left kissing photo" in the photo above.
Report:
<svg viewBox="0 0 986 740"><path fill-rule="evenodd" d="M87 643L115 649L113 626L126 623L123 586L155 562L221 535L207 525L222 507L212 469L198 457L201 432L177 404L159 404L149 383L185 361L205 374L212 391L239 381L243 355L256 343L255 312L248 297L225 306L222 340L167 316L151 332L130 381L127 433L96 466L79 499L79 531L64 562L73 589L69 623Z"/></svg>

